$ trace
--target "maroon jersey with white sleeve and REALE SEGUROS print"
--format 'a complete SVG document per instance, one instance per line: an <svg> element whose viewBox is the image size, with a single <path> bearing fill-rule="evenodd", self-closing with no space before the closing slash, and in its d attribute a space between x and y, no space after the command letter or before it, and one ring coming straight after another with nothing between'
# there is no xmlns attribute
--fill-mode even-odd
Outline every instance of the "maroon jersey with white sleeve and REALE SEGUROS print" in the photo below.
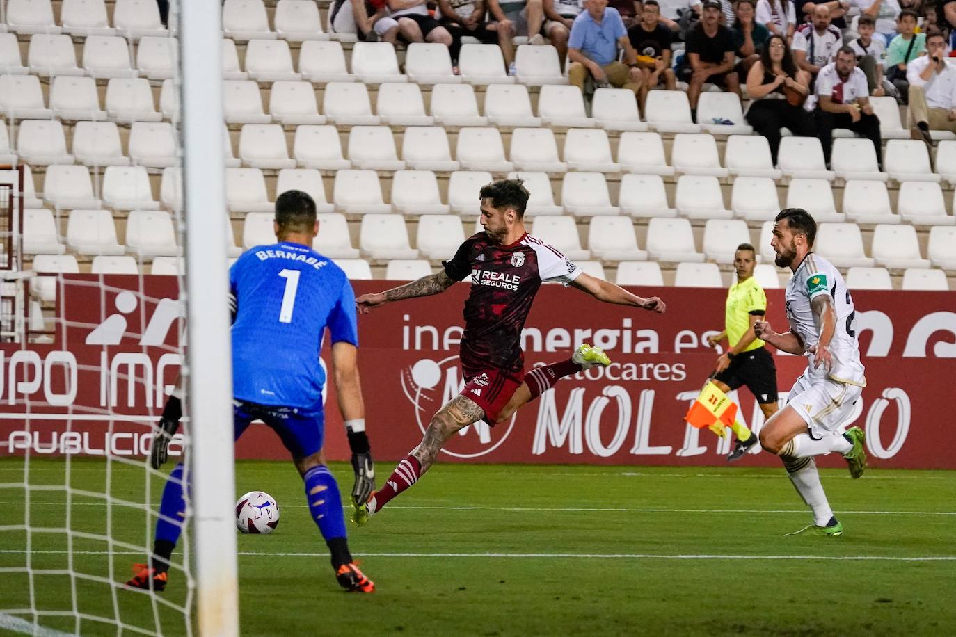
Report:
<svg viewBox="0 0 956 637"><path fill-rule="evenodd" d="M520 372L521 330L538 287L545 281L567 285L581 273L554 247L527 233L511 245L498 245L479 232L444 265L454 281L471 275L459 354L466 372L489 367Z"/></svg>

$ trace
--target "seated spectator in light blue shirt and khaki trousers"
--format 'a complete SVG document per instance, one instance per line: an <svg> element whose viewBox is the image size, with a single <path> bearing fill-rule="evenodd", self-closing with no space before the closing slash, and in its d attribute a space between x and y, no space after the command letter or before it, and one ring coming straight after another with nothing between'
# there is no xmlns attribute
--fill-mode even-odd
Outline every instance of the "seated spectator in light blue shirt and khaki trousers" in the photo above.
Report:
<svg viewBox="0 0 956 637"><path fill-rule="evenodd" d="M584 0L584 9L568 39L568 80L585 96L611 85L633 91L636 98L641 69L618 11L610 9L607 0ZM618 47L624 50L625 63L618 61Z"/></svg>

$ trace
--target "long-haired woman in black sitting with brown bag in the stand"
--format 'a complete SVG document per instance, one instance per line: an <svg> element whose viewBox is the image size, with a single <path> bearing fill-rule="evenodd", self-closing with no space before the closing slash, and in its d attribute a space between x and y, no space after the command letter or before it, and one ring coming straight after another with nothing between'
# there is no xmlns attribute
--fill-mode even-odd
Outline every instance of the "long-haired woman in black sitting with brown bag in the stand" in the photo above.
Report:
<svg viewBox="0 0 956 637"><path fill-rule="evenodd" d="M771 35L760 59L747 75L750 109L747 122L767 138L773 165L780 150L780 129L802 138L815 137L814 118L803 109L810 94L810 74L796 66L787 39Z"/></svg>

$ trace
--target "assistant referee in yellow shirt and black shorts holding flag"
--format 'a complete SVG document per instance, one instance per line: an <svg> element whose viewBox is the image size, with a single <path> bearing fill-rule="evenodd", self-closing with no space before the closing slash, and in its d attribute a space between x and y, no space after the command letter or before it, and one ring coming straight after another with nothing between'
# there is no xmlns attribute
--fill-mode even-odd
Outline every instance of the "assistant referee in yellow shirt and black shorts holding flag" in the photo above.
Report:
<svg viewBox="0 0 956 637"><path fill-rule="evenodd" d="M747 385L766 419L775 414L779 406L773 356L764 347L764 342L753 333L754 322L762 320L767 313L767 295L753 278L753 268L756 265L757 257L753 246L738 245L733 255L737 283L727 291L724 331L707 337L707 344L716 347L726 338L730 346L717 358L714 384L724 393ZM734 423L731 429L737 436L737 443L727 457L728 462L744 457L747 450L757 442L757 436L739 421Z"/></svg>

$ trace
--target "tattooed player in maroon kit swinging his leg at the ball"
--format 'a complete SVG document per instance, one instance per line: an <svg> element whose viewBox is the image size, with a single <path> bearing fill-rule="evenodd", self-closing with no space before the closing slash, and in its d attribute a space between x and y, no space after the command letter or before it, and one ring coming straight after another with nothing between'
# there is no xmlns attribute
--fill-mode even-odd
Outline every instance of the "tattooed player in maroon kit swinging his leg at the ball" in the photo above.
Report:
<svg viewBox="0 0 956 637"><path fill-rule="evenodd" d="M444 292L471 275L459 350L465 389L432 416L422 442L402 459L381 489L364 506L356 505L352 520L359 525L415 484L435 462L445 441L460 429L479 420L493 426L510 418L560 378L611 362L601 350L585 344L568 360L524 372L521 330L543 282L560 281L605 303L664 311L663 301L656 296L644 299L584 274L552 246L529 235L524 223L529 194L522 183L500 180L481 189L481 224L485 230L461 244L454 258L444 262L443 270L356 299L359 312L367 313L391 301Z"/></svg>

